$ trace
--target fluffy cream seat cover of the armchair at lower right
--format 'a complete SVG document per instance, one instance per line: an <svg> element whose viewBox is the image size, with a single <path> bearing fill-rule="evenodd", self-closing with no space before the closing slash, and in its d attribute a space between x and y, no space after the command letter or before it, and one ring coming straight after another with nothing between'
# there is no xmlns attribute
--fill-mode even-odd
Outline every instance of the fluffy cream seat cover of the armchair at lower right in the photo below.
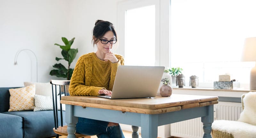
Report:
<svg viewBox="0 0 256 138"><path fill-rule="evenodd" d="M256 138L256 126L240 121L215 120L212 129L230 133L234 138Z"/></svg>

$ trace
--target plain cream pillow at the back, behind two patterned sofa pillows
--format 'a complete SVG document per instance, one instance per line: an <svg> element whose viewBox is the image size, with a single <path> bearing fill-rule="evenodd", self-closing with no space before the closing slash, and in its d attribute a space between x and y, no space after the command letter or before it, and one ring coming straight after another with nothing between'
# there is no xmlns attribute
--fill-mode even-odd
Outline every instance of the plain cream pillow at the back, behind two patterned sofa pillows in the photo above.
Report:
<svg viewBox="0 0 256 138"><path fill-rule="evenodd" d="M36 85L36 94L44 96L52 96L52 84L49 83L36 83L36 82L24 82L25 86Z"/></svg>

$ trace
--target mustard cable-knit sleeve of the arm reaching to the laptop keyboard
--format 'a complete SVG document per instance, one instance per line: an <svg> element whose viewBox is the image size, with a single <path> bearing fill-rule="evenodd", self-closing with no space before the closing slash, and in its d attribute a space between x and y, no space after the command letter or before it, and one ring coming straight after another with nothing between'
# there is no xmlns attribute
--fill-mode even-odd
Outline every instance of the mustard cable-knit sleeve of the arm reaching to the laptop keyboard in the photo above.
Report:
<svg viewBox="0 0 256 138"><path fill-rule="evenodd" d="M69 94L76 96L97 96L98 91L106 89L103 87L85 86L85 58L80 57L73 71L70 84Z"/></svg>

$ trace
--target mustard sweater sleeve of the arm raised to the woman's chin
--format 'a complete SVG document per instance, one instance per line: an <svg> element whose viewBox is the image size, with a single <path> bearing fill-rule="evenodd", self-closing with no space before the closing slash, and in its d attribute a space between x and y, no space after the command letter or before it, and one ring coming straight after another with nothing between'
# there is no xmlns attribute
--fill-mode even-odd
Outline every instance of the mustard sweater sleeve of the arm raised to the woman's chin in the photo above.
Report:
<svg viewBox="0 0 256 138"><path fill-rule="evenodd" d="M113 89L114 81L116 78L117 67L120 65L124 65L124 58L122 56L120 56L120 59L118 59L117 63L111 63L111 73L110 73L110 81L109 81L110 91L112 91Z"/></svg>

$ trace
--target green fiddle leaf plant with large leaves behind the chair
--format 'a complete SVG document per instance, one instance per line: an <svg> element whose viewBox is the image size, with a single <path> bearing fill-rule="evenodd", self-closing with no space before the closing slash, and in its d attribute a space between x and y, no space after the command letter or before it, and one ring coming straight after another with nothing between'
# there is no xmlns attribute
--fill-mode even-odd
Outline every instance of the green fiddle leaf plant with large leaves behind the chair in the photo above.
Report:
<svg viewBox="0 0 256 138"><path fill-rule="evenodd" d="M67 61L68 62L68 69L64 65L62 65L61 63L58 63L58 64L56 63L52 66L53 68L56 68L56 69L52 69L51 72L50 72L50 75L57 76L57 77L63 77L63 78L67 78L67 80L70 80L71 76L73 74L73 71L74 71L74 69L70 68L70 64L75 59L76 54L78 53L78 49L77 48L76 49L70 48L71 45L73 44L75 38L73 38L69 41L65 37L62 37L61 39L65 44L64 46L59 45L59 44L54 44L54 45L60 46L60 48L62 49L61 55L63 56L63 58L56 57L55 60L59 61L59 60L64 59L65 61Z"/></svg>

